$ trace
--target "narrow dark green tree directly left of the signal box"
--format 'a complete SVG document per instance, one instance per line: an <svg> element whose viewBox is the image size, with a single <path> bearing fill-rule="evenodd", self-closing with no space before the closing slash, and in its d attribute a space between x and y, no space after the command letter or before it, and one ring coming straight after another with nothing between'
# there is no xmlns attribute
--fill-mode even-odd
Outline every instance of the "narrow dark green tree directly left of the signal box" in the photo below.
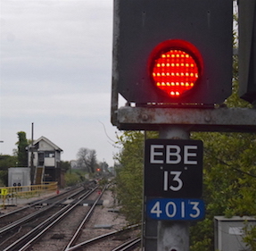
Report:
<svg viewBox="0 0 256 251"><path fill-rule="evenodd" d="M29 146L28 140L26 138L26 132L17 132L19 141L16 143L18 146L18 166L28 166L28 152L26 147Z"/></svg>

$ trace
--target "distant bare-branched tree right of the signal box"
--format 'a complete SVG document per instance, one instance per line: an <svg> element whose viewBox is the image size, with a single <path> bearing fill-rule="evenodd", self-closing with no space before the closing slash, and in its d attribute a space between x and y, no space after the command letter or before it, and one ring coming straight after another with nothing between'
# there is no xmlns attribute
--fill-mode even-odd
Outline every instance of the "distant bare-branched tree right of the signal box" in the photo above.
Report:
<svg viewBox="0 0 256 251"><path fill-rule="evenodd" d="M90 150L85 147L81 147L78 150L78 166L85 168L87 172L95 173L97 160L96 160L96 151Z"/></svg>

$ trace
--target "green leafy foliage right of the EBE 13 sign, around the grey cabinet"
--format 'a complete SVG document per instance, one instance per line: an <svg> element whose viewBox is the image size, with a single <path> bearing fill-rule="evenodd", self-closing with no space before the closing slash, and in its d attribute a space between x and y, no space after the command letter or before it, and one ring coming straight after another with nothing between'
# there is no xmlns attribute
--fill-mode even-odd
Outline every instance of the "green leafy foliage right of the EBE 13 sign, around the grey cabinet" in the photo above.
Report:
<svg viewBox="0 0 256 251"><path fill-rule="evenodd" d="M194 133L204 144L203 200L206 217L191 228L191 250L214 250L216 215L255 215L256 136L246 133Z"/></svg>

